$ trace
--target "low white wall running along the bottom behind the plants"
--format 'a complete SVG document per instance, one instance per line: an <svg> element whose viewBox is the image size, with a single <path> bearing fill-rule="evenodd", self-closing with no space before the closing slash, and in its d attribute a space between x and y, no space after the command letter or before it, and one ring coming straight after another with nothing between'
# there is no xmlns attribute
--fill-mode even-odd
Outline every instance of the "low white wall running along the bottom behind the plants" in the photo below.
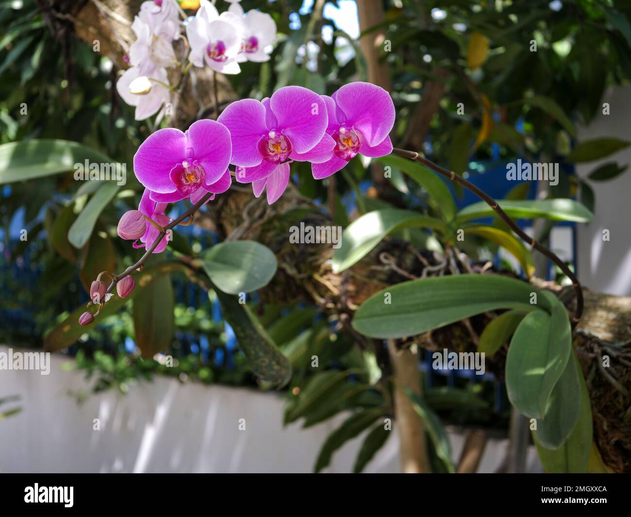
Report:
<svg viewBox="0 0 631 517"><path fill-rule="evenodd" d="M0 352L6 352L0 347ZM343 419L283 427L283 400L246 388L181 384L155 377L128 395L107 392L78 405L80 372L0 371L0 398L20 395L23 411L0 420L0 472L311 472L324 439ZM6 410L6 408L4 408ZM100 431L93 431L93 419ZM238 430L245 419L245 431ZM363 435L333 456L325 472L351 472ZM454 458L463 444L450 434ZM481 472L493 472L505 441L491 440ZM529 451L531 472L540 466ZM365 472L399 472L396 429Z"/></svg>

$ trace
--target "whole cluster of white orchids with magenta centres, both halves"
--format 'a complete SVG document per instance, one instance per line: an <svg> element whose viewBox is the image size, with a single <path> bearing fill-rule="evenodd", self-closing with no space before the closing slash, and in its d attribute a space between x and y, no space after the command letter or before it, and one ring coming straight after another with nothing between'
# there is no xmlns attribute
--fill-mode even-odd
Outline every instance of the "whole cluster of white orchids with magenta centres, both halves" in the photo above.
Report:
<svg viewBox="0 0 631 517"><path fill-rule="evenodd" d="M238 74L240 62L269 60L269 47L276 39L272 17L256 9L245 14L239 3L228 1L230 8L220 15L209 0L201 0L196 15L184 23L180 22L175 0L148 0L141 4L131 26L136 41L126 57L131 67L116 83L122 99L136 107L136 120L155 115L168 102L171 85L167 69L179 64L173 42L180 38L184 25L191 65ZM190 65L182 73L186 74L189 68Z"/></svg>

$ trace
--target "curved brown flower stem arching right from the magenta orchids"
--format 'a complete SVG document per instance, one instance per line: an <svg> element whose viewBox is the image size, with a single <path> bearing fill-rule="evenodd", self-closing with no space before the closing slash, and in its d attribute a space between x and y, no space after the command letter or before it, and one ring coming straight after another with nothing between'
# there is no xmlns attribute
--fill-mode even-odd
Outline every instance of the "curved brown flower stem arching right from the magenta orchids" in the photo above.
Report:
<svg viewBox="0 0 631 517"><path fill-rule="evenodd" d="M446 177L447 179L450 179L451 181L455 183L461 184L463 187L473 192L476 196L478 196L478 198L485 201L485 203L487 203L487 205L490 206L493 209L493 211L495 211L495 213L497 213L498 217L502 219L502 221L504 221L507 225L509 225L510 229L513 230L517 235L519 235L519 237L521 237L521 239L524 242L528 242L528 244L530 244L539 253L542 253L543 255L548 257L551 261L553 261L553 263L557 264L560 270L563 271L563 273L565 273L565 275L567 275L568 278L570 278L570 280L572 280L572 287L574 287L574 290L576 292L576 310L574 311L574 318L572 318L573 319L572 326L576 326L576 324L579 323L579 320L581 319L581 316L583 314L583 290L581 288L581 283L579 282L579 279L576 278L576 275L572 273L572 270L570 270L567 264L565 264L560 258L558 258L557 255L552 253L548 248L546 248L545 246L541 246L541 244L539 244L533 237L530 237L528 234L526 234L526 232L524 232L524 230L522 230L519 226L517 226L517 223L514 222L506 214L504 210L502 210L502 208L500 207L500 205L498 205L495 199L493 199L491 196L485 193L485 191L476 187L473 183L466 181L466 179L457 175L452 170L448 170L448 169L444 169L443 167L440 167L440 165L433 163L432 161L428 160L424 156L414 151L406 151L404 149L394 148L394 150L392 150L392 153L403 158L408 158L408 160L413 160L414 162L422 163L423 165L425 165L425 167L428 167L428 169L431 169L434 172L437 172L438 174Z"/></svg>

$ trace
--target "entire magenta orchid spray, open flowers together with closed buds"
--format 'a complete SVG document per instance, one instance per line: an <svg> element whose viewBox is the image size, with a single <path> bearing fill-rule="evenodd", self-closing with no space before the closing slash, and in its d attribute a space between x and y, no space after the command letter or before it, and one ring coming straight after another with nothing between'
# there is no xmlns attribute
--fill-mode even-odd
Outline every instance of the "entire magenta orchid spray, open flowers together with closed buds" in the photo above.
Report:
<svg viewBox="0 0 631 517"><path fill-rule="evenodd" d="M389 93L370 83L350 83L331 97L285 86L262 101L233 102L217 121L193 122L184 133L160 129L134 155L134 172L144 193L138 210L121 217L118 235L134 241L134 247L161 253L168 241L169 203L206 203L228 190L234 174L237 181L252 184L256 197L266 191L271 205L288 185L292 162L310 162L314 178L326 178L358 154L391 153L393 126ZM230 164L235 167L232 173ZM131 275L101 273L92 283L88 304L98 304L99 309L96 314L81 314L82 325L92 323L109 299L102 275L112 278L122 298L134 289Z"/></svg>

